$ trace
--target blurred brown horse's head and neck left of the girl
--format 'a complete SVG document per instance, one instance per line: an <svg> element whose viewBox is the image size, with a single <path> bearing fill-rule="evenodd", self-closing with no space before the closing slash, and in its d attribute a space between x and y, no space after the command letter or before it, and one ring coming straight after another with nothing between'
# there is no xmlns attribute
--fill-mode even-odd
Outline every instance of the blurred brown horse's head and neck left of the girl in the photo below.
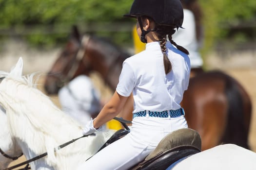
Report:
<svg viewBox="0 0 256 170"><path fill-rule="evenodd" d="M115 89L122 62L128 56L106 39L92 35L80 37L77 27L73 27L68 43L46 76L44 89L48 94L57 94L64 84L78 75L88 76L91 71L97 71Z"/></svg>

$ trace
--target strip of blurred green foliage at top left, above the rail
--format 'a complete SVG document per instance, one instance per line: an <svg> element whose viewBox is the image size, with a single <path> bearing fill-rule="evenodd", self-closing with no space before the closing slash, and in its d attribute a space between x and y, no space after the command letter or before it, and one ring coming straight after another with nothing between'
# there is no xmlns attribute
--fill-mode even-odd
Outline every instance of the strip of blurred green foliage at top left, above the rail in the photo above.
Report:
<svg viewBox="0 0 256 170"><path fill-rule="evenodd" d="M0 0L0 20L19 24L74 24L122 20L131 0Z"/></svg>

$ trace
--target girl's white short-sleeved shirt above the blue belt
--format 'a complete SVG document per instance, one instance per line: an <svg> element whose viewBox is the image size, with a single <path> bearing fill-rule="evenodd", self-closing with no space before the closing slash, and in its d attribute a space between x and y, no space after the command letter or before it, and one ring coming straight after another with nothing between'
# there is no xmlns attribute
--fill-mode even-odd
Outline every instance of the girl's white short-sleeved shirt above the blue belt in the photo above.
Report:
<svg viewBox="0 0 256 170"><path fill-rule="evenodd" d="M189 84L190 60L169 41L166 47L172 63L172 71L167 75L159 42L147 43L145 51L123 62L116 90L121 96L129 96L133 92L134 113L180 108L183 93Z"/></svg>

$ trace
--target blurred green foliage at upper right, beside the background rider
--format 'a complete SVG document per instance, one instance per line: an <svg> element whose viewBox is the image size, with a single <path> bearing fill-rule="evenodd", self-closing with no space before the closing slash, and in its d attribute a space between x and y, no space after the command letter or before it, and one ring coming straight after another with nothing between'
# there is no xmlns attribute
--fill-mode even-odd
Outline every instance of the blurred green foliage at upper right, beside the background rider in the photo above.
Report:
<svg viewBox="0 0 256 170"><path fill-rule="evenodd" d="M256 47L256 0L199 0L203 12L203 53L213 47Z"/></svg>

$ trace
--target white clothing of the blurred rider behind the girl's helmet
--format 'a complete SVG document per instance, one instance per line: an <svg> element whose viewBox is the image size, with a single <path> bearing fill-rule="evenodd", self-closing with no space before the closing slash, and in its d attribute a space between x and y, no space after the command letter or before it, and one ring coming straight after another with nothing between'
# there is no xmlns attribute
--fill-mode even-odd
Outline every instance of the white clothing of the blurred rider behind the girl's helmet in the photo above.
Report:
<svg viewBox="0 0 256 170"><path fill-rule="evenodd" d="M184 9L184 20L182 27L173 34L173 40L189 51L191 68L202 67L203 60L199 53L199 42L196 35L196 20L192 11Z"/></svg>

